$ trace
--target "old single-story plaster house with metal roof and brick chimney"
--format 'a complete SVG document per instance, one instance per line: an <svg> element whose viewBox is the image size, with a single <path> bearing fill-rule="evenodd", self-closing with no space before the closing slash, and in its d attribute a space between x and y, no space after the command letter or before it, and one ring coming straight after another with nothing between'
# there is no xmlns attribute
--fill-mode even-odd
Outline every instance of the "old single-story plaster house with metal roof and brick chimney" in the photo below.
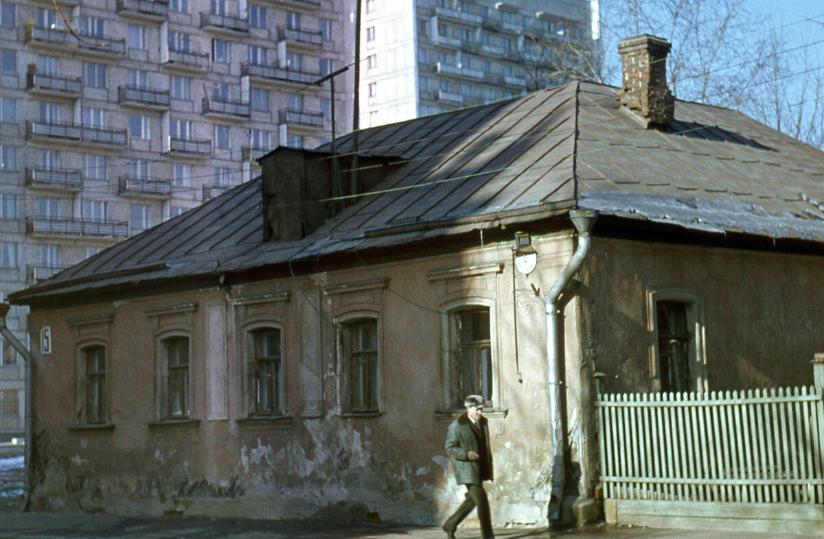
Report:
<svg viewBox="0 0 824 539"><path fill-rule="evenodd" d="M494 523L560 500L587 520L596 373L613 393L809 383L824 154L675 100L668 49L622 42L622 88L278 148L11 295L39 358L33 503L441 523L462 496L447 425L482 393Z"/></svg>

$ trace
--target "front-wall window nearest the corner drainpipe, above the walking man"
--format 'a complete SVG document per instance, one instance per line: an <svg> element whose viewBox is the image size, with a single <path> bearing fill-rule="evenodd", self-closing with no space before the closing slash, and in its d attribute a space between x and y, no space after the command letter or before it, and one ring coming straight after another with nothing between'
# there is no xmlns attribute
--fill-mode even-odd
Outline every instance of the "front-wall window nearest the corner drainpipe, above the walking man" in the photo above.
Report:
<svg viewBox="0 0 824 539"><path fill-rule="evenodd" d="M492 400L489 308L472 306L449 313L449 396L460 408L466 395Z"/></svg>

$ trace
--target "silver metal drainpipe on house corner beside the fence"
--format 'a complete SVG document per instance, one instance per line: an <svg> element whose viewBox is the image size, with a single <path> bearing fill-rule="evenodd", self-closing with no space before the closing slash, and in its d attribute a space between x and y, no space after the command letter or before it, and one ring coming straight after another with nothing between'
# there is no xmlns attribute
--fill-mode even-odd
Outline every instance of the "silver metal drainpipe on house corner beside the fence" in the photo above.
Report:
<svg viewBox="0 0 824 539"><path fill-rule="evenodd" d="M560 361L563 354L560 351L559 335L563 332L561 324L564 316L559 309L558 300L564 289L572 281L583 258L587 256L590 246L592 225L595 224L597 214L591 210L571 210L569 217L575 229L578 230L578 248L569 260L567 267L555 281L555 284L546 295L546 369L550 393L550 431L552 439L552 490L550 492L550 506L547 518L551 523L559 523L562 517L564 504L564 421L561 417L561 380Z"/></svg>

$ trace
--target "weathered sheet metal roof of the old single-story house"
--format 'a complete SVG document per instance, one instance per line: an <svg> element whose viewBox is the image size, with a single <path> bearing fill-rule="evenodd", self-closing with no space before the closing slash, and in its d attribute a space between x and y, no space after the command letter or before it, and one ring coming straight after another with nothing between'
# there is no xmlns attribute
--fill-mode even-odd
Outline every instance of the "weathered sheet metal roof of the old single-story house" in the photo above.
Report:
<svg viewBox="0 0 824 539"><path fill-rule="evenodd" d="M824 241L824 152L733 110L684 101L667 128L647 129L619 107L616 91L574 82L363 130L360 153L401 165L304 239L263 241L255 179L12 300L236 272L574 207L695 230ZM351 135L339 139L340 153L351 149Z"/></svg>

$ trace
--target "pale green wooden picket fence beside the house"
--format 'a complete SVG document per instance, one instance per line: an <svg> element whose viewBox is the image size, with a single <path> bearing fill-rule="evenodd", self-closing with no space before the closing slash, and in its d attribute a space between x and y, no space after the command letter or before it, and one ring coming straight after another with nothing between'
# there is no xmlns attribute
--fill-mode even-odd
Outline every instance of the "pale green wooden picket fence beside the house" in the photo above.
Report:
<svg viewBox="0 0 824 539"><path fill-rule="evenodd" d="M606 499L824 503L818 384L606 394L597 409Z"/></svg>

